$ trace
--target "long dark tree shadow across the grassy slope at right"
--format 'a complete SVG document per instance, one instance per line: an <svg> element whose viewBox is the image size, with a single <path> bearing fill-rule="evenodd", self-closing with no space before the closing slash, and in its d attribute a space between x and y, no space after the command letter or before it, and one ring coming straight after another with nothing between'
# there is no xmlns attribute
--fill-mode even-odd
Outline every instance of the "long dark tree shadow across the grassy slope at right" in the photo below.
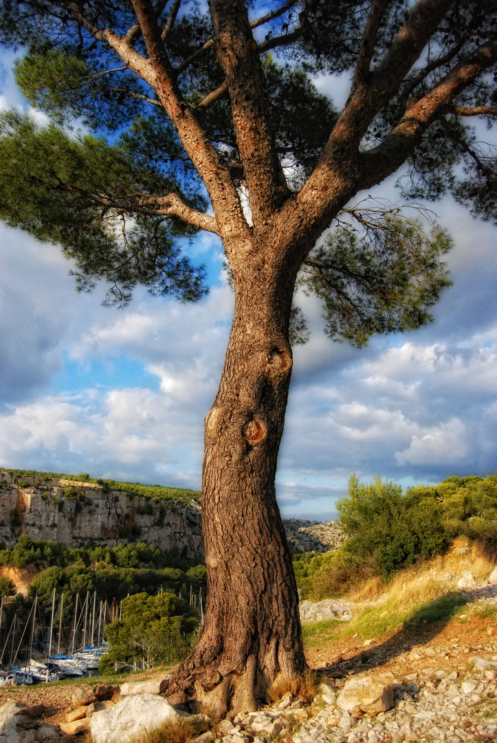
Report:
<svg viewBox="0 0 497 743"><path fill-rule="evenodd" d="M345 658L340 656L326 666L316 668L317 672L324 672L328 676L336 674L336 678L342 675L362 672L380 666L385 666L394 658L410 652L416 646L427 645L439 635L449 621L455 617L462 606L474 603L479 597L488 596L484 589L475 591L451 591L444 596L435 599L426 606L415 611L409 620L406 620L397 631L378 645L357 650L354 655ZM428 658L426 658L428 661Z"/></svg>

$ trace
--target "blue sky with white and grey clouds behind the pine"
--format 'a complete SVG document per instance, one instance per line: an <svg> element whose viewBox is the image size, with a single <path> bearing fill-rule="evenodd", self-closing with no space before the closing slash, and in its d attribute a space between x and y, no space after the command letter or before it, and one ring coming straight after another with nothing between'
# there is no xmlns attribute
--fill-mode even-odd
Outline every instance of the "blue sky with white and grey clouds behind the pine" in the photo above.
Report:
<svg viewBox="0 0 497 743"><path fill-rule="evenodd" d="M12 61L0 53L0 108L26 109ZM345 79L318 85L345 100ZM374 194L397 200L394 180ZM357 351L331 343L319 303L298 298L312 334L294 349L284 518L337 518L352 473L409 487L497 470L496 228L448 199L430 208L455 240L432 325ZM58 247L0 223L0 467L200 488L233 294L215 236L192 255L211 282L198 304L139 290L125 310L103 308L105 287L77 293Z"/></svg>

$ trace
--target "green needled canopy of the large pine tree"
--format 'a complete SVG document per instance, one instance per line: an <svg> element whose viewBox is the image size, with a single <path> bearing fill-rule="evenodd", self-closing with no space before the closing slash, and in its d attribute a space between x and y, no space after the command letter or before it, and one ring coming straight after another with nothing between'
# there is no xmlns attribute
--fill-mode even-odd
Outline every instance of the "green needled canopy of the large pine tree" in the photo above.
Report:
<svg viewBox="0 0 497 743"><path fill-rule="evenodd" d="M479 116L491 126L497 111L490 72L494 5L299 0L258 13L253 4L253 64L260 73L233 74L240 91L256 77L263 86L263 101L250 105L267 108L252 114L270 132L275 206L291 200L313 172L316 178L330 133L341 127L340 147L357 149L353 169L360 171L350 195L405 161L398 186L406 200L450 192L475 215L495 220L493 147L481 143L471 124ZM236 120L244 104L236 104L236 113L228 97L211 14L195 3L157 2L155 30L143 30L140 13L151 8L65 1L0 6L4 43L25 50L16 80L51 119L37 126L27 115L2 115L0 216L61 244L76 261L78 288L91 290L104 278L106 301L117 305L129 301L137 283L181 301L207 291L204 267L192 265L187 244L199 229L222 230L209 215L212 187L182 126L193 127L235 192L248 192L249 224L255 208L246 170L257 169L261 142L254 140L254 158L244 163ZM157 90L150 56L157 44L174 114ZM314 76L354 65L351 95L339 114ZM343 207L319 218L314 241L333 218L337 229L301 264L305 288L324 305L328 334L363 345L372 332L426 322L447 283L440 257L448 236L377 203ZM295 311L297 328L298 319L305 330ZM294 336L303 338L305 331Z"/></svg>

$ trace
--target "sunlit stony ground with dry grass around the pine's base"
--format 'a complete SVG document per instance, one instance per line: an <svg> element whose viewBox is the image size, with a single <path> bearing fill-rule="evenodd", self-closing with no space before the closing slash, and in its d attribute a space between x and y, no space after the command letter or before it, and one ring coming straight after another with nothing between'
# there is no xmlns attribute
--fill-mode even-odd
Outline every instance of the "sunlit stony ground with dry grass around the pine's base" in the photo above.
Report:
<svg viewBox="0 0 497 743"><path fill-rule="evenodd" d="M492 600L492 599L490 599ZM259 713L226 720L204 743L436 743L497 740L497 626L473 617L360 641L345 637L308 650L308 662L325 686L314 701L284 698ZM157 678L148 672L133 679ZM377 716L337 704L347 681L368 678L394 692L394 708ZM88 680L89 683L89 680ZM113 681L114 683L114 681ZM74 684L0 691L7 699L44 704L43 718L65 721ZM288 703L288 704L287 704ZM79 736L80 737L80 736ZM77 743L78 736L74 736Z"/></svg>

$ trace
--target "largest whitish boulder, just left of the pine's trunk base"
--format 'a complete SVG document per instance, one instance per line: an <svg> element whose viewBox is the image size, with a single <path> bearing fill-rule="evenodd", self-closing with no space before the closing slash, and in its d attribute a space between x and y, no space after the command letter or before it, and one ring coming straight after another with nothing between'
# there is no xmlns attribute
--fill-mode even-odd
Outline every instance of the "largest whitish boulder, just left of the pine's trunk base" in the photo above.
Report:
<svg viewBox="0 0 497 743"><path fill-rule="evenodd" d="M126 696L109 710L91 716L93 743L128 743L168 720L178 719L174 707L160 696L134 694Z"/></svg>

